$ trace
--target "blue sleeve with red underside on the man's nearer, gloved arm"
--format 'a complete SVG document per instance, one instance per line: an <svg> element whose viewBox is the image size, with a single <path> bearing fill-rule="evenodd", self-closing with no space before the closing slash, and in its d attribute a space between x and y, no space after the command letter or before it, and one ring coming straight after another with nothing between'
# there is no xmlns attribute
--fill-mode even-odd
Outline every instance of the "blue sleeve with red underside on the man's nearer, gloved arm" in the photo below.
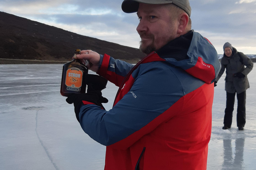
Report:
<svg viewBox="0 0 256 170"><path fill-rule="evenodd" d="M81 107L80 125L85 133L103 145L125 149L181 112L184 92L179 80L170 68L153 63L137 68L141 71L134 73L130 91L113 109L105 111L90 104ZM142 65L151 67L141 69ZM172 111L163 116L170 107Z"/></svg>

